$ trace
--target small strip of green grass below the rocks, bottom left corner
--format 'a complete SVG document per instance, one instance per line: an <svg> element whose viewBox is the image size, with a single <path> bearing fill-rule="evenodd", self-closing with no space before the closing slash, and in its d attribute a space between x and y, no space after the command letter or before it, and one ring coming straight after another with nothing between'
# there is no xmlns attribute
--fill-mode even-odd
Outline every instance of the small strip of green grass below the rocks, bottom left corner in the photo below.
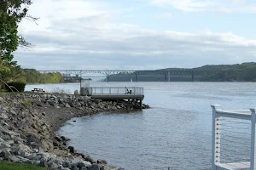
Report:
<svg viewBox="0 0 256 170"><path fill-rule="evenodd" d="M35 167L23 163L12 163L7 161L0 161L0 169L4 170L46 170L44 167Z"/></svg>

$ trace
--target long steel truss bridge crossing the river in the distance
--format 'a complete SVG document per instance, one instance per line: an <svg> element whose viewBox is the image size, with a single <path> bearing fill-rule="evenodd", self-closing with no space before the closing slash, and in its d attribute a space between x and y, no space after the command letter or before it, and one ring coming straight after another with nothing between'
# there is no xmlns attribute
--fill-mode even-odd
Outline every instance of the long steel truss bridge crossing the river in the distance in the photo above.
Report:
<svg viewBox="0 0 256 170"><path fill-rule="evenodd" d="M165 76L165 81L168 82L168 77L172 76L190 76L191 81L195 81L195 76L203 76L207 73L223 73L224 71L207 71L207 70L197 70L197 69L165 69L165 70L49 70L49 71L39 71L40 73L52 73L52 72L60 72L62 75L79 75L82 77L84 74L102 74L106 76L107 82L109 81L110 75L127 75L131 74L135 76L135 81L137 82L138 76L143 75L161 75Z"/></svg>

